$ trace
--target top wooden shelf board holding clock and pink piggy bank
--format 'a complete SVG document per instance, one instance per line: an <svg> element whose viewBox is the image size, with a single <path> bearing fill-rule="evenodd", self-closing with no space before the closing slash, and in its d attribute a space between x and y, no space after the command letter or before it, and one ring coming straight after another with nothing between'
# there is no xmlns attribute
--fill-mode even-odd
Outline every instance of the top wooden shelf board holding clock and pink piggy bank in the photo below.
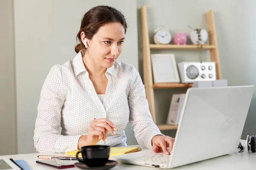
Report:
<svg viewBox="0 0 256 170"><path fill-rule="evenodd" d="M215 49L215 45L173 45L173 44L149 44L151 50L211 50Z"/></svg>

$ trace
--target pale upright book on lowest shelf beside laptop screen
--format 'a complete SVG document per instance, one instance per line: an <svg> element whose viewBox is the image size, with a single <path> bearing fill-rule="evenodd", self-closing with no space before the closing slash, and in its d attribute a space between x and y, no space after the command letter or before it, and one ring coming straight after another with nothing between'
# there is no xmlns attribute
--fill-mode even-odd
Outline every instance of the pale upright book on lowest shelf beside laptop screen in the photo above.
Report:
<svg viewBox="0 0 256 170"><path fill-rule="evenodd" d="M172 95L172 101L171 101L171 104L170 104L166 124L168 124L168 125L178 125L185 96L186 96L186 94L174 94L174 95Z"/></svg>

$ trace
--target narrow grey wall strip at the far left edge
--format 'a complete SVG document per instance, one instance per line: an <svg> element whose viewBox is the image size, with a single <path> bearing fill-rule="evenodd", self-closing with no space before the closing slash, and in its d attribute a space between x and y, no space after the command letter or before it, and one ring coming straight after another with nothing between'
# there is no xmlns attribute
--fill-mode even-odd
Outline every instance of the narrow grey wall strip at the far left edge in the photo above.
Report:
<svg viewBox="0 0 256 170"><path fill-rule="evenodd" d="M12 22L12 1L0 0L0 155L17 150Z"/></svg>

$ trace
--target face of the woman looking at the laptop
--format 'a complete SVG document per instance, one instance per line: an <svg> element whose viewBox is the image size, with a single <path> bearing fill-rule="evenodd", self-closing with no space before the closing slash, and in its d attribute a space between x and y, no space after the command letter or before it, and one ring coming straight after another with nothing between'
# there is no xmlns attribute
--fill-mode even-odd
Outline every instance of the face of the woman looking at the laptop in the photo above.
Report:
<svg viewBox="0 0 256 170"><path fill-rule="evenodd" d="M84 40L82 36L82 40ZM125 28L120 23L108 23L99 28L91 40L87 40L87 51L94 62L110 68L122 53Z"/></svg>

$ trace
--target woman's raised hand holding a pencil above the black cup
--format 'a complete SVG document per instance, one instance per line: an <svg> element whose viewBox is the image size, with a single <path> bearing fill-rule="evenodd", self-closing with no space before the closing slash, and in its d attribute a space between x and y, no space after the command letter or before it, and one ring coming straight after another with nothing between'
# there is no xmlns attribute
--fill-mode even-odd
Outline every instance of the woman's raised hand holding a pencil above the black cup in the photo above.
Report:
<svg viewBox="0 0 256 170"><path fill-rule="evenodd" d="M107 132L115 135L113 130L114 127L113 123L108 119L94 119L89 125L88 134L80 137L78 141L78 149L83 146L95 145L101 139L105 141Z"/></svg>

